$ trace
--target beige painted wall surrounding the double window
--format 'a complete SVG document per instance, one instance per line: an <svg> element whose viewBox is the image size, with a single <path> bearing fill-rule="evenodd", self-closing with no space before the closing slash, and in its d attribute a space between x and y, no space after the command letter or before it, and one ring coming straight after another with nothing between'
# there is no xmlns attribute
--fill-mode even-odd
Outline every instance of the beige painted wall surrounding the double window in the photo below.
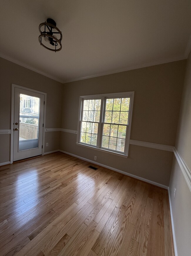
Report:
<svg viewBox="0 0 191 256"><path fill-rule="evenodd" d="M175 145L186 61L99 76L64 84L62 128L77 130L80 95L135 91L130 139ZM61 133L63 151L169 185L172 152L130 145L128 158L76 145Z"/></svg>

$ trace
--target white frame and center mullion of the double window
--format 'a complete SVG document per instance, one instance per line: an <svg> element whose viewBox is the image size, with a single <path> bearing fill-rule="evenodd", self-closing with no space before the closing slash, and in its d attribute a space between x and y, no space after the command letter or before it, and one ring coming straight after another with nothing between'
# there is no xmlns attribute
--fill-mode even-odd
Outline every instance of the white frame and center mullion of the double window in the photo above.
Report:
<svg viewBox="0 0 191 256"><path fill-rule="evenodd" d="M125 138L125 150L123 152L115 151L112 149L106 149L101 147L102 141L102 133L103 133L103 123L104 123L104 116L105 116L105 103L106 98L130 98L130 105L129 105L129 114L128 114L128 124L126 129L126 138ZM90 145L83 142L80 142L80 130L81 130L81 121L83 115L83 100L95 100L101 99L101 107L100 107L100 122L98 125L98 136L97 136L97 145ZM77 132L77 145L100 150L103 152L107 152L110 154L115 154L123 157L128 157L129 151L129 142L130 142L130 131L131 131L131 122L132 122L132 114L133 114L133 100L134 100L134 92L118 92L118 93L107 93L107 94L94 94L94 95L83 95L80 96L79 102L79 113L78 113L78 132ZM96 122L93 122L96 123Z"/></svg>

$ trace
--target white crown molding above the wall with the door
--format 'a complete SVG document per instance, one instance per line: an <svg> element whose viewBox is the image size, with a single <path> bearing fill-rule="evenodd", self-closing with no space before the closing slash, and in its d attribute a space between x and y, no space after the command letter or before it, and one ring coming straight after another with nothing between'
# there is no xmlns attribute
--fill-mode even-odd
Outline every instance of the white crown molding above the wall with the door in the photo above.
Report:
<svg viewBox="0 0 191 256"><path fill-rule="evenodd" d="M51 75L49 75L49 74L47 74L47 73L45 73L45 72L43 72L43 71L41 71L41 70L38 70L38 69L36 69L36 68L34 68L34 67L32 67L32 66L26 64L26 63L23 63L23 62L21 62L21 61L18 61L18 60L14 59L14 58L12 58L12 57L10 57L10 56L7 56L7 55L5 55L4 53L1 53L1 52L0 52L0 57L3 58L3 59L6 59L7 61L11 61L11 62L13 62L13 63L15 63L15 64L18 64L19 66L22 66L22 67L24 67L24 68L26 68L26 69L30 69L30 70L32 70L32 71L38 73L38 74L41 74L41 75L43 75L43 76L46 76L46 77L48 77L48 78L51 78L51 79L53 79L53 80L55 80L55 81L60 82L60 83L63 84L63 80L58 79L58 78L56 78L55 76L51 76Z"/></svg>

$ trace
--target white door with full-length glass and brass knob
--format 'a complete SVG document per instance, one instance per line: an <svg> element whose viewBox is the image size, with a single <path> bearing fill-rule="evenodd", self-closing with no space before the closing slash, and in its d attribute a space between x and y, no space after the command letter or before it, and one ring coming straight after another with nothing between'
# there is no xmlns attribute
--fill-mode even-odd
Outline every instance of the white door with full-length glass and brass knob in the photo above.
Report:
<svg viewBox="0 0 191 256"><path fill-rule="evenodd" d="M44 95L15 87L13 161L42 154Z"/></svg>

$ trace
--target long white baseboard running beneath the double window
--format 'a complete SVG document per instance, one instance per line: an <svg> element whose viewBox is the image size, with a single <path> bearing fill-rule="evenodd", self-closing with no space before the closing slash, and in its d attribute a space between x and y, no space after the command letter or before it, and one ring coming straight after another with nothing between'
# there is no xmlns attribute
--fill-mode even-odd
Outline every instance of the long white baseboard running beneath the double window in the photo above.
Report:
<svg viewBox="0 0 191 256"><path fill-rule="evenodd" d="M135 178L135 179L138 179L138 180L141 180L141 181L145 181L145 182L148 182L148 183L150 183L150 184L152 184L152 185L155 185L155 186L158 186L158 187L162 187L162 188L168 189L168 186L162 185L162 184L157 183L157 182L154 182L154 181L152 181L152 180L147 180L147 179L145 179L145 178L142 178L142 177L139 177L139 176L133 175L133 174L131 174L131 173L128 173L128 172L124 172L124 171L121 171L121 170L115 169L115 168L110 167L110 166L107 166L107 165L105 165L105 164L100 164L100 163L98 163L98 162L95 162L95 161L92 161L92 160L86 159L86 158L84 158L84 157L81 157L81 156L77 156L77 155L74 155L74 154L68 153L68 152L63 151L63 150L59 150L59 151L60 151L60 152L62 152L62 153L65 153L65 154L68 154L68 155L74 156L74 157L76 157L76 158L79 158L79 159L81 159L81 160L84 160L84 161L86 161L86 162L90 162L90 163L92 163L92 164L97 164L97 165L100 165L100 166L102 166L102 167L104 167L104 168L107 168L107 169L113 170L113 171L115 171L115 172L120 172L120 173L122 173L122 174L124 174L124 175L130 176L130 177L133 177L133 178Z"/></svg>

